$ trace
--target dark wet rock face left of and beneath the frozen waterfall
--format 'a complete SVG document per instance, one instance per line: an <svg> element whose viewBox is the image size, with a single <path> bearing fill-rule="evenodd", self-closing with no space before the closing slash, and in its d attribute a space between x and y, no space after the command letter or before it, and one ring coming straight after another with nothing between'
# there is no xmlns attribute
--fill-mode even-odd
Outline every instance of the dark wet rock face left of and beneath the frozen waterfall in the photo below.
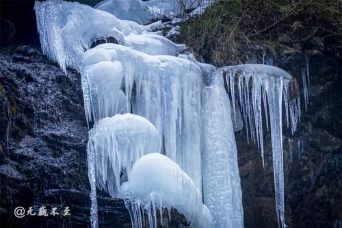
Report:
<svg viewBox="0 0 342 228"><path fill-rule="evenodd" d="M38 49L0 51L0 227L90 227L80 85L76 71L64 75ZM19 206L33 207L36 216L16 218ZM42 206L59 215L38 216ZM63 216L66 207L70 216ZM100 227L131 227L123 201L101 191L98 218ZM187 221L174 210L169 227L179 225Z"/></svg>

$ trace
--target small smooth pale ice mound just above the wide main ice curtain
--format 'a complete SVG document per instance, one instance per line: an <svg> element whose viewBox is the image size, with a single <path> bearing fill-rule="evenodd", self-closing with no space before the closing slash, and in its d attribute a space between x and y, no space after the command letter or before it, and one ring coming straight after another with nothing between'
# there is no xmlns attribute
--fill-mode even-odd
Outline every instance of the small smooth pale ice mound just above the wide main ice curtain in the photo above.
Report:
<svg viewBox="0 0 342 228"><path fill-rule="evenodd" d="M131 34L124 39L124 45L149 55L177 55L185 49L185 45L176 45L157 34Z"/></svg>

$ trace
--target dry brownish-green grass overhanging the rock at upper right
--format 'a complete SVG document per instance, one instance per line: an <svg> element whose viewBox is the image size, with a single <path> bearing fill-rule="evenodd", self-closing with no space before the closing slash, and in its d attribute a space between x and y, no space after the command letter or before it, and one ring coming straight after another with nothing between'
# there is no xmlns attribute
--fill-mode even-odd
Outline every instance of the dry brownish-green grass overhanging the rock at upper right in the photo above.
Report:
<svg viewBox="0 0 342 228"><path fill-rule="evenodd" d="M341 58L342 1L218 1L185 21L176 41L217 66L262 62L265 52L277 59L312 42Z"/></svg>

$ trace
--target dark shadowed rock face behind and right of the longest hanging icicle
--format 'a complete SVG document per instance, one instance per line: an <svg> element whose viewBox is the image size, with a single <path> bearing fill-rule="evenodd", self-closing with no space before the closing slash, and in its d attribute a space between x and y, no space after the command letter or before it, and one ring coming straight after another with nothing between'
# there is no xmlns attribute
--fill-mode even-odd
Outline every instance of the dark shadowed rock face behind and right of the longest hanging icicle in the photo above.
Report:
<svg viewBox="0 0 342 228"><path fill-rule="evenodd" d="M291 53L281 68L296 77L302 98L302 118L293 136L283 124L285 209L288 227L342 225L342 62L328 53L308 52L311 87L304 110L304 54ZM304 51L302 51L304 53ZM264 122L265 123L265 122ZM283 123L285 119L283 118ZM270 134L264 129L265 168L260 151L247 144L245 129L235 134L245 227L277 227Z"/></svg>

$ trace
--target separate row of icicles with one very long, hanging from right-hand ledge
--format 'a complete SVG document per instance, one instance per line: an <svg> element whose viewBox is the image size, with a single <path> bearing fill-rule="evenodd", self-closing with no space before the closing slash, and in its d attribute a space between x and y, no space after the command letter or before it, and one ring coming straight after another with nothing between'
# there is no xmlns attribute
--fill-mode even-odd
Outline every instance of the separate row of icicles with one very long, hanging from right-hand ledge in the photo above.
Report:
<svg viewBox="0 0 342 228"><path fill-rule="evenodd" d="M293 132L300 118L300 99L298 94L294 92L298 89L297 82L286 71L263 64L225 66L220 68L218 72L226 77L233 106L235 106L235 84L237 84L238 99L247 135L252 140L257 141L262 156L263 123L261 106L263 103L267 129L269 122L272 138L276 211L280 216L282 227L286 227L282 158L282 101L284 99L287 127L291 123L291 131ZM233 109L235 110L235 107Z"/></svg>

